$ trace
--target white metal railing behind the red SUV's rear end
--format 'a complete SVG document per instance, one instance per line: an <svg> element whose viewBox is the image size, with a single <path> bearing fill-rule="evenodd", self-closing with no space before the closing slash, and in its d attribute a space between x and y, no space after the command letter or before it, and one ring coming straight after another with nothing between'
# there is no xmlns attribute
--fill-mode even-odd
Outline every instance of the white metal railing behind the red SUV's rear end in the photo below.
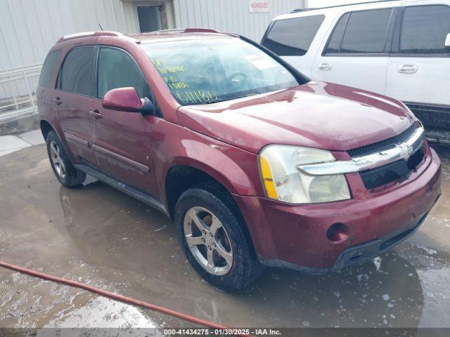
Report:
<svg viewBox="0 0 450 337"><path fill-rule="evenodd" d="M0 70L0 121L37 114L36 88L42 65Z"/></svg>

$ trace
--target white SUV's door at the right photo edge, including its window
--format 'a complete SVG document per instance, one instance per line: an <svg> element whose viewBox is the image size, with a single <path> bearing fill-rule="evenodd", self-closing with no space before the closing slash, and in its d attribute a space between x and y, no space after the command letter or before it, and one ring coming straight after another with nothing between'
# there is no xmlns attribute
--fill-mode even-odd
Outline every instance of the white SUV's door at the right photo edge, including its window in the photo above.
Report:
<svg viewBox="0 0 450 337"><path fill-rule="evenodd" d="M450 130L450 6L406 6L399 21L387 95L406 102L425 126Z"/></svg>

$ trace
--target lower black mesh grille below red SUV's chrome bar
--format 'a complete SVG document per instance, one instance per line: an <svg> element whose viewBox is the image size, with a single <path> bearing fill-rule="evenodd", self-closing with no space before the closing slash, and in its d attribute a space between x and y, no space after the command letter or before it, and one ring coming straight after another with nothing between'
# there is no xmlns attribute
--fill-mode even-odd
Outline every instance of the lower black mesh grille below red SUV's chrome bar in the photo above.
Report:
<svg viewBox="0 0 450 337"><path fill-rule="evenodd" d="M408 159L400 159L375 169L361 171L361 179L368 190L380 187L396 180L405 180L416 170L425 156L425 145L422 145Z"/></svg>

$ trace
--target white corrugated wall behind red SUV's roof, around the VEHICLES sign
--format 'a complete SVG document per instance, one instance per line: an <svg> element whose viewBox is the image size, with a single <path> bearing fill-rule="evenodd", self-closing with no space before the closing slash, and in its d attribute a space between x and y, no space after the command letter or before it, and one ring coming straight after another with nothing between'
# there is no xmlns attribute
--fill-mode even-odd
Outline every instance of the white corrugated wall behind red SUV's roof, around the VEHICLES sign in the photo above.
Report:
<svg viewBox="0 0 450 337"><path fill-rule="evenodd" d="M269 22L306 0L269 0L269 13L250 13L248 0L174 0L177 28L212 28L261 41Z"/></svg>

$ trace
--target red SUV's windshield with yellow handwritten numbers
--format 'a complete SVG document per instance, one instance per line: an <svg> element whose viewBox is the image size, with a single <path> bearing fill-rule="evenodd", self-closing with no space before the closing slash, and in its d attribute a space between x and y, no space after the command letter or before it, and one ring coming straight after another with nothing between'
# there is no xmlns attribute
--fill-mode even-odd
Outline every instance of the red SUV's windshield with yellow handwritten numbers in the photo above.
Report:
<svg viewBox="0 0 450 337"><path fill-rule="evenodd" d="M274 58L237 38L141 46L181 105L232 100L298 85Z"/></svg>

